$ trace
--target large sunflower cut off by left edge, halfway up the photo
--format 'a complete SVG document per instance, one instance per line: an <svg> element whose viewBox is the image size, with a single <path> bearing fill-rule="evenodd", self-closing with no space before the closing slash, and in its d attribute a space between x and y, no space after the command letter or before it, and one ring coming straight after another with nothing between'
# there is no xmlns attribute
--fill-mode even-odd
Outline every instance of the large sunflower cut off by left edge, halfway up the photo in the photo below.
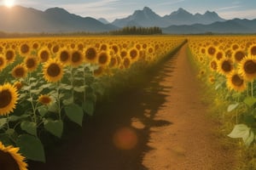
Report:
<svg viewBox="0 0 256 170"><path fill-rule="evenodd" d="M8 115L13 112L17 103L18 93L17 89L5 83L0 86L0 116Z"/></svg>

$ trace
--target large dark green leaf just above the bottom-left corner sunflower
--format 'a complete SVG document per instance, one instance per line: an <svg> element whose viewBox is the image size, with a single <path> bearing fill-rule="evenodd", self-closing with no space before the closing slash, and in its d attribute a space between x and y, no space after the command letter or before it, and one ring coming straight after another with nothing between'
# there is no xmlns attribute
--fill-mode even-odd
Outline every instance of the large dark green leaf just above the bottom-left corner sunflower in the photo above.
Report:
<svg viewBox="0 0 256 170"><path fill-rule="evenodd" d="M16 144L20 147L20 153L27 159L45 162L44 146L35 136L22 134L17 139Z"/></svg>

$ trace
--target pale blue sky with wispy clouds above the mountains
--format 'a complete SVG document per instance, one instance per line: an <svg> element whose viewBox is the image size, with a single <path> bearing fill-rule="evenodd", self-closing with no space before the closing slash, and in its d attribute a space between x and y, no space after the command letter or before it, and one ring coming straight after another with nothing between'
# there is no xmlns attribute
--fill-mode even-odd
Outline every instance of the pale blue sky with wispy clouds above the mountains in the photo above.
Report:
<svg viewBox="0 0 256 170"><path fill-rule="evenodd" d="M96 19L102 17L108 21L125 18L145 6L152 8L160 16L171 14L177 8L184 8L192 14L215 11L227 20L256 18L256 0L1 0L0 5L6 1L15 1L16 5L43 11L60 7L72 14Z"/></svg>

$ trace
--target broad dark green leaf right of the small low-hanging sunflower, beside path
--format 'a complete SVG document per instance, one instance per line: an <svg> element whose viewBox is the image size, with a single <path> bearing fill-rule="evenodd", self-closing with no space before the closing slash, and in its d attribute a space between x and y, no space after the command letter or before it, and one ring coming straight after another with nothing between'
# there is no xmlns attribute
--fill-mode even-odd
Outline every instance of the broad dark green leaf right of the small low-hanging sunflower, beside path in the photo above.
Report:
<svg viewBox="0 0 256 170"><path fill-rule="evenodd" d="M84 112L79 105L76 105L76 104L67 105L65 106L65 112L67 114L67 117L71 121L78 123L82 127Z"/></svg>

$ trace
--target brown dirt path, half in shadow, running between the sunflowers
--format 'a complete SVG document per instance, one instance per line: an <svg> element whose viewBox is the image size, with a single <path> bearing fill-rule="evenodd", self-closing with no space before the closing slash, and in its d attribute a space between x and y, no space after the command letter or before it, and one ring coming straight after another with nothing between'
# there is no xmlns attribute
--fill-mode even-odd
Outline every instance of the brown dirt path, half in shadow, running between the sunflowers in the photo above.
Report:
<svg viewBox="0 0 256 170"><path fill-rule="evenodd" d="M30 170L233 169L232 153L212 132L217 125L206 116L186 48L148 75L143 88L98 107L48 150L47 163L29 162Z"/></svg>

